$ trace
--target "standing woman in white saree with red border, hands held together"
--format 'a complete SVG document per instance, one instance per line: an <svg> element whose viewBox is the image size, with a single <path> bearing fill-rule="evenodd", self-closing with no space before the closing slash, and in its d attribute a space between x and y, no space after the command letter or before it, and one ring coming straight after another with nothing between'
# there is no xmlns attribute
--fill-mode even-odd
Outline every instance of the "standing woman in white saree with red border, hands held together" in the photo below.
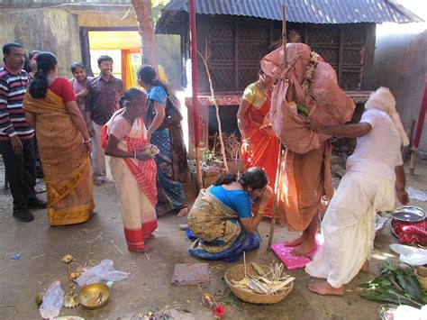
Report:
<svg viewBox="0 0 427 320"><path fill-rule="evenodd" d="M145 151L150 148L142 118L147 96L136 88L120 99L118 110L104 125L105 154L109 155L111 173L120 197L124 236L129 251L150 252L145 242L157 229L156 162Z"/></svg>

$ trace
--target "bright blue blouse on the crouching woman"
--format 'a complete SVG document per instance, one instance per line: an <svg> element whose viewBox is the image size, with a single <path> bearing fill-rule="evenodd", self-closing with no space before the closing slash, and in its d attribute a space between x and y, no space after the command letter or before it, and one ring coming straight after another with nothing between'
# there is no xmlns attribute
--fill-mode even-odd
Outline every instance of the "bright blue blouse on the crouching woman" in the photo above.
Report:
<svg viewBox="0 0 427 320"><path fill-rule="evenodd" d="M209 192L225 206L237 212L241 219L252 216L250 213L250 196L248 192L243 190L227 190L223 186L213 186L209 189Z"/></svg>

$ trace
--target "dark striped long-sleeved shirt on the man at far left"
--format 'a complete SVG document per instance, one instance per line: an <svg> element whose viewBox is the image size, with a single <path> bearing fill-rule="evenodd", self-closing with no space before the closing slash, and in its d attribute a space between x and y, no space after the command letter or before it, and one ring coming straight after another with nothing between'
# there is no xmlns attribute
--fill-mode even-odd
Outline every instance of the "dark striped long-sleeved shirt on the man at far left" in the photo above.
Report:
<svg viewBox="0 0 427 320"><path fill-rule="evenodd" d="M0 141L10 141L15 135L21 140L34 136L23 111L23 96L29 83L24 70L13 73L6 66L0 69Z"/></svg>

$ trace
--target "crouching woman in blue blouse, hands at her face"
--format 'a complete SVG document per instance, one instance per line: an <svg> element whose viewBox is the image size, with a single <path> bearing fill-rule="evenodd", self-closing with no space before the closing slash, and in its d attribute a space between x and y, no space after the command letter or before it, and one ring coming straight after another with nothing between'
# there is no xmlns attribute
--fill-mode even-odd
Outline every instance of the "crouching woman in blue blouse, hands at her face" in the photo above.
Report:
<svg viewBox="0 0 427 320"><path fill-rule="evenodd" d="M241 259L243 251L259 248L257 229L272 196L267 175L258 167L247 169L240 178L227 174L201 190L188 215L188 226L198 238L188 250L190 255L233 262Z"/></svg>

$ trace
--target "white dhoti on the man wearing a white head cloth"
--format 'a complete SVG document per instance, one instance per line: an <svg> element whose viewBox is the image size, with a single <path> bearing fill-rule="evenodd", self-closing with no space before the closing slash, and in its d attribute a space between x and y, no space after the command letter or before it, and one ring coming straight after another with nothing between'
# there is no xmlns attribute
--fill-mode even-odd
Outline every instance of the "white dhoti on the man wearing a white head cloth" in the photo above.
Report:
<svg viewBox="0 0 427 320"><path fill-rule="evenodd" d="M305 271L341 288L370 259L376 210L395 206L395 181L358 171L342 178L322 222L323 246Z"/></svg>

